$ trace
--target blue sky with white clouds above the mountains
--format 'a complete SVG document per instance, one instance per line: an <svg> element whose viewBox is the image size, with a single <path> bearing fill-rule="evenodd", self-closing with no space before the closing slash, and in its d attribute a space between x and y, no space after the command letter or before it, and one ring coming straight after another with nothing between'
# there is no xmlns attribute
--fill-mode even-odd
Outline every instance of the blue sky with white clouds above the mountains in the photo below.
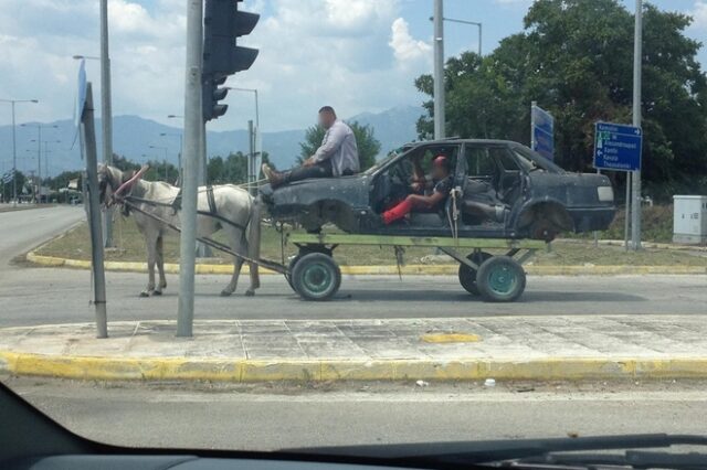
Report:
<svg viewBox="0 0 707 470"><path fill-rule="evenodd" d="M18 107L18 121L71 118L76 62L98 51L96 0L3 0L0 10L0 97L38 98ZM246 0L261 13L244 43L261 49L250 71L229 79L257 88L265 131L314 122L324 104L348 117L424 97L414 78L432 67L432 0ZM445 17L481 21L484 52L523 28L531 0L445 0ZM633 10L633 1L625 4ZM707 0L659 0L696 17L687 34L707 40ZM170 122L183 113L186 0L109 0L114 113ZM474 26L445 25L446 55L477 47ZM707 64L707 51L699 60ZM87 63L98 82L98 64ZM97 83L95 92L99 92ZM244 128L250 94L231 93L229 113L212 129ZM0 125L9 124L0 105ZM171 122L177 125L178 122Z"/></svg>

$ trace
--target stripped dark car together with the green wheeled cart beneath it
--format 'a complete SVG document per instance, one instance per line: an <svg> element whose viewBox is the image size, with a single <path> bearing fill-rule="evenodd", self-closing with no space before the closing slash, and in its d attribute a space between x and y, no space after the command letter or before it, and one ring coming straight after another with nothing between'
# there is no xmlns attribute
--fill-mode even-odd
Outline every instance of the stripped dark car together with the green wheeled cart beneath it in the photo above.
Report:
<svg viewBox="0 0 707 470"><path fill-rule="evenodd" d="M380 214L410 194L420 170L429 174L439 156L451 162L453 178L445 203L382 224ZM507 140L410 143L360 174L265 185L261 195L274 221L307 232L288 237L299 252L285 276L308 300L336 293L341 273L333 252L348 244L436 247L460 263L460 284L469 293L514 301L526 287L521 265L534 252L561 232L605 229L615 212L605 175L567 172ZM325 224L347 233L323 232Z"/></svg>

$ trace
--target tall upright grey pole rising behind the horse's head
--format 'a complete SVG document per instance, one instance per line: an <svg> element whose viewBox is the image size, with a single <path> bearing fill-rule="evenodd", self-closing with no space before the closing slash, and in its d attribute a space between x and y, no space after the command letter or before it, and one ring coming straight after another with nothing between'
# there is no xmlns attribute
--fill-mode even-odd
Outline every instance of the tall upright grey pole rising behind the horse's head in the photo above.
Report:
<svg viewBox="0 0 707 470"><path fill-rule="evenodd" d="M103 162L113 164L113 110L110 104L110 56L108 55L108 0L101 0L101 127L103 131ZM113 243L113 209L104 220L104 246Z"/></svg>

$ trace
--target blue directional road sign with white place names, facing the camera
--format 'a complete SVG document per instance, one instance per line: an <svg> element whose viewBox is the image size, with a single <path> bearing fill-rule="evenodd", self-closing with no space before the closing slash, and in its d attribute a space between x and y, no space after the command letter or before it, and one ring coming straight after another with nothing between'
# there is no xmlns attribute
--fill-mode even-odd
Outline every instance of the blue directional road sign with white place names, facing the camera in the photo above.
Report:
<svg viewBox="0 0 707 470"><path fill-rule="evenodd" d="M641 170L643 131L623 124L594 125L594 168L603 170Z"/></svg>

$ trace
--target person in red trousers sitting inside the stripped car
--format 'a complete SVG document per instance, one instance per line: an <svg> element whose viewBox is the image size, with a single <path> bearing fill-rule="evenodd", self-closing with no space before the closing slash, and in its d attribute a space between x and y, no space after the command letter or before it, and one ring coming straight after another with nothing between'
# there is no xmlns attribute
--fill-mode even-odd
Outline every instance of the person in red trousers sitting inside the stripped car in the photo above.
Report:
<svg viewBox="0 0 707 470"><path fill-rule="evenodd" d="M418 171L415 170L415 175L416 173ZM413 211L434 211L444 204L454 184L450 160L445 156L437 156L432 161L432 180L434 182L432 193L409 194L403 201L382 213L382 223L390 225ZM421 183L421 181L413 180L413 184Z"/></svg>

